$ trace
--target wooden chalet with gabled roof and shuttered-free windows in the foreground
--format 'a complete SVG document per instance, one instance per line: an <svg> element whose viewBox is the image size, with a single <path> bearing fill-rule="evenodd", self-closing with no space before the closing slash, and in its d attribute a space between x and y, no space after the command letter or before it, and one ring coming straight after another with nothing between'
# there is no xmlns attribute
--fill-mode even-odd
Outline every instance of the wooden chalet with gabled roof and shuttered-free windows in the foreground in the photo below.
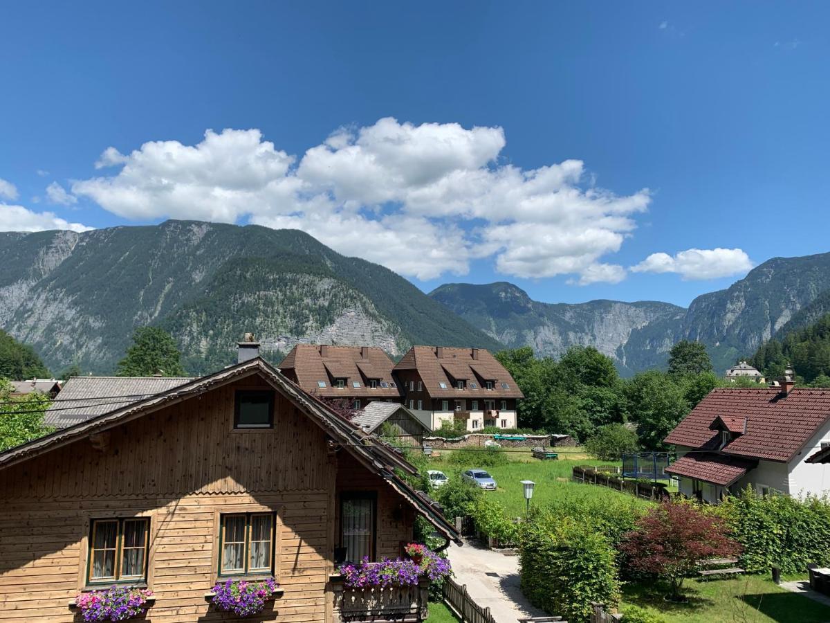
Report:
<svg viewBox="0 0 830 623"><path fill-rule="evenodd" d="M206 593L263 576L282 592L248 620L341 621L335 554L396 557L417 514L458 538L398 470L258 357L93 415L0 454L0 621L78 621L116 583L154 591L146 621L225 621Z"/></svg>

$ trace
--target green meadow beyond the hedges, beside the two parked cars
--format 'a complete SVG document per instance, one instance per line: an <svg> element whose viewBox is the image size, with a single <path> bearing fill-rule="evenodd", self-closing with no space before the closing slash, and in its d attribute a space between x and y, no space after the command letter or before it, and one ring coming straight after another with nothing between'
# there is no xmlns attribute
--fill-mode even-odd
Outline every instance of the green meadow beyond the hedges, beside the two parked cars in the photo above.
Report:
<svg viewBox="0 0 830 623"><path fill-rule="evenodd" d="M512 450L512 449L511 449ZM577 483L571 480L571 468L574 465L607 465L608 461L595 461L587 458L581 448L557 449L559 460L540 461L526 452L510 451L507 456L510 463L500 467L484 468L496 478L499 488L487 491L488 497L495 498L505 506L507 513L520 517L525 514L525 498L521 480L533 480L536 483L533 501L539 506L547 506L562 498L615 498L621 495L630 498L627 493L591 484ZM477 465L458 466L447 462L448 452L442 453L440 459L432 459L430 469L440 469L450 478L458 478L467 468Z"/></svg>

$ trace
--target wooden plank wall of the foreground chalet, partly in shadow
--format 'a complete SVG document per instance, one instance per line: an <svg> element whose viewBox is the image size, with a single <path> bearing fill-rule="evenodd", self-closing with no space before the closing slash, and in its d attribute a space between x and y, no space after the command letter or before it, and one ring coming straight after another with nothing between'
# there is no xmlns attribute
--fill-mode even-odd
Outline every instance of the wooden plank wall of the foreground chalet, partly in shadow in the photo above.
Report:
<svg viewBox="0 0 830 623"><path fill-rule="evenodd" d="M83 440L0 472L0 621L80 621L67 605L83 584L90 518L136 515L150 517L157 603L147 621L225 620L203 599L216 580L218 516L262 508L278 513L286 593L251 621L325 621L336 460L322 431L281 398L274 429L233 431L233 390L252 385L124 424L103 450ZM397 547L384 534L384 551Z"/></svg>

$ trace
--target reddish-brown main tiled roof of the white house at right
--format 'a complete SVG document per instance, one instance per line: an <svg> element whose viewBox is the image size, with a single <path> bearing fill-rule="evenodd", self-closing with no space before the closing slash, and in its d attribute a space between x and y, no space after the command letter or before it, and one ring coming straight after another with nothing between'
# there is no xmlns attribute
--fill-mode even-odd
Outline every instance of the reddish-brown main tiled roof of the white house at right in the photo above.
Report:
<svg viewBox="0 0 830 623"><path fill-rule="evenodd" d="M666 437L666 444L715 449L720 433L716 418L746 419L746 432L732 439L727 454L789 461L830 417L830 390L715 388Z"/></svg>

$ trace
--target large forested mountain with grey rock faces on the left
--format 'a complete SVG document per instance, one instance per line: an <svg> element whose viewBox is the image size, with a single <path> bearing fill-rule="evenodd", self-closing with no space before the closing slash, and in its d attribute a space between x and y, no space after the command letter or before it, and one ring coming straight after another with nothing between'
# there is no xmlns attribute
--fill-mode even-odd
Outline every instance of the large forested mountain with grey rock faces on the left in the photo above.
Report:
<svg viewBox="0 0 830 623"><path fill-rule="evenodd" d="M0 328L51 370L109 373L136 326L173 333L190 373L233 361L254 331L278 356L300 341L500 344L392 271L295 230L195 221L0 233Z"/></svg>

